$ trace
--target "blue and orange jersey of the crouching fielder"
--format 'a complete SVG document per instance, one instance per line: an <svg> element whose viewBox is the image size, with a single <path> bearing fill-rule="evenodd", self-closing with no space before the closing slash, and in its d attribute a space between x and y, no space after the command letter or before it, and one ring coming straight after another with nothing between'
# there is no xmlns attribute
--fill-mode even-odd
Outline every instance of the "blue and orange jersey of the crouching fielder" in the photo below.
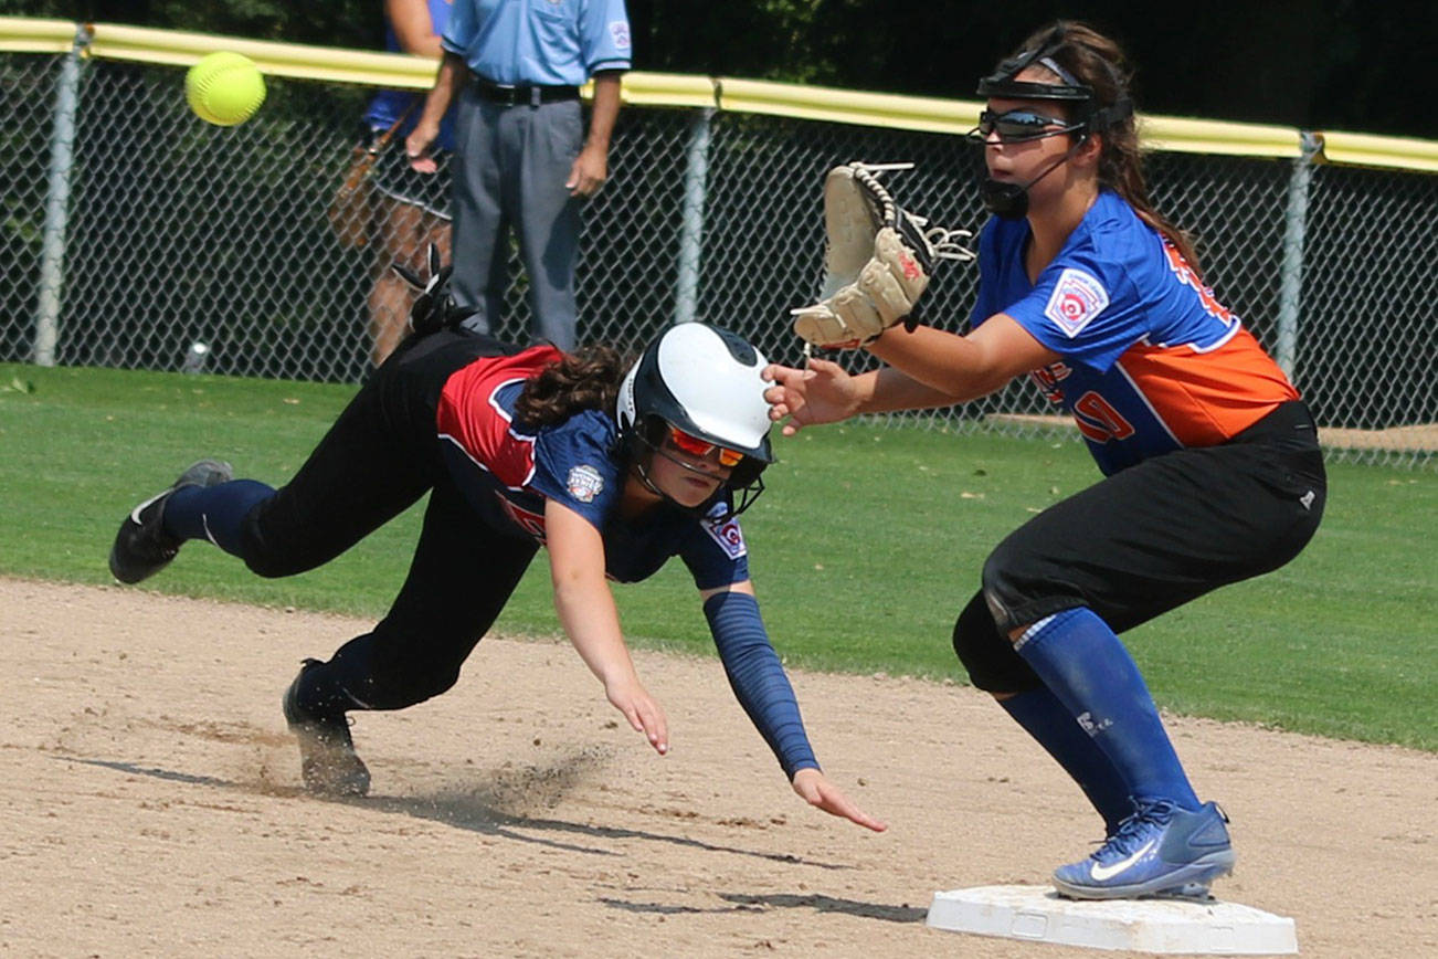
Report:
<svg viewBox="0 0 1438 959"><path fill-rule="evenodd" d="M1232 439L1299 397L1178 249L1103 190L1037 282L1027 220L979 237L974 325L1007 313L1061 357L1032 380L1073 416L1104 474Z"/></svg>

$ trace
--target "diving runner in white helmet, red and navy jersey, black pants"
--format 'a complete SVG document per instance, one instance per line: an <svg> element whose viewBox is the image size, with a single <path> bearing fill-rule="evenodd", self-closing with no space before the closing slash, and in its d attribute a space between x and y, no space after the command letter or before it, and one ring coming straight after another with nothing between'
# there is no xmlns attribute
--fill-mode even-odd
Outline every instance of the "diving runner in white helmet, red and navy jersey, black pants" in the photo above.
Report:
<svg viewBox="0 0 1438 959"><path fill-rule="evenodd" d="M634 671L607 581L646 579L679 556L729 683L794 791L881 831L820 771L749 581L738 516L774 459L764 367L746 341L697 322L666 331L627 372L607 347L413 335L289 483L201 460L127 516L111 571L138 582L207 539L262 577L293 575L429 493L390 612L328 661L306 660L283 697L305 785L364 795L370 771L347 713L450 689L541 546L565 634L610 703L667 752L664 712Z"/></svg>

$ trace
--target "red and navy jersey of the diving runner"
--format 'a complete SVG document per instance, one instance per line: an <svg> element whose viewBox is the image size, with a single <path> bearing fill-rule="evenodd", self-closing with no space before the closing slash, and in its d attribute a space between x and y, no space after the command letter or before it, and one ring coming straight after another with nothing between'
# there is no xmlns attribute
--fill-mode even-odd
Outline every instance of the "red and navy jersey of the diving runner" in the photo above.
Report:
<svg viewBox="0 0 1438 959"><path fill-rule="evenodd" d="M697 518L666 505L641 523L618 516L626 466L608 413L584 410L538 428L515 421L525 381L559 357L554 347L482 357L444 382L436 430L470 506L495 529L542 543L545 500L559 500L600 531L605 572L618 582L646 579L670 556L684 561L700 589L748 579L748 548L733 518ZM726 503L716 502L710 513L723 516Z"/></svg>

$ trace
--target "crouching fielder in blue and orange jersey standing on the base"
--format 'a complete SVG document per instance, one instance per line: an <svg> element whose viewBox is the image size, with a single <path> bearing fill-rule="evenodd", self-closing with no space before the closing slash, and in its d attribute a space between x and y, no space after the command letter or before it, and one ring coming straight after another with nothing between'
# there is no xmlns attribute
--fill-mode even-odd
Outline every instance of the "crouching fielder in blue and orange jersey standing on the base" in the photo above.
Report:
<svg viewBox="0 0 1438 959"><path fill-rule="evenodd" d="M811 309L830 325L802 329L834 336L817 345L858 342L887 365L774 367L772 416L791 416L789 433L963 403L1028 375L1073 417L1106 479L994 549L953 648L1103 817L1103 844L1054 871L1061 894L1206 900L1234 867L1228 817L1199 801L1117 634L1303 549L1327 490L1317 431L1149 203L1112 40L1057 23L978 93L972 138L994 219L971 329L890 325L856 339L833 308Z"/></svg>

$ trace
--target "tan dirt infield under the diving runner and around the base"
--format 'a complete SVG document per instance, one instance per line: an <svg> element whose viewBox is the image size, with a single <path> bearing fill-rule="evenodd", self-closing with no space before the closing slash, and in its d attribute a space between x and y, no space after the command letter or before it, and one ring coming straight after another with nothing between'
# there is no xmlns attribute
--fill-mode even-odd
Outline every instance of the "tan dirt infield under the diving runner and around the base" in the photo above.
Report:
<svg viewBox="0 0 1438 959"><path fill-rule="evenodd" d="M361 715L374 795L298 791L279 696L367 624L0 579L6 956L1096 956L928 929L935 890L1044 884L1097 838L962 686L797 673L804 807L713 660L638 653L674 749L567 647L489 638L449 694ZM940 637L942 638L942 637ZM1438 755L1175 720L1232 817L1222 899L1306 956L1438 955Z"/></svg>

